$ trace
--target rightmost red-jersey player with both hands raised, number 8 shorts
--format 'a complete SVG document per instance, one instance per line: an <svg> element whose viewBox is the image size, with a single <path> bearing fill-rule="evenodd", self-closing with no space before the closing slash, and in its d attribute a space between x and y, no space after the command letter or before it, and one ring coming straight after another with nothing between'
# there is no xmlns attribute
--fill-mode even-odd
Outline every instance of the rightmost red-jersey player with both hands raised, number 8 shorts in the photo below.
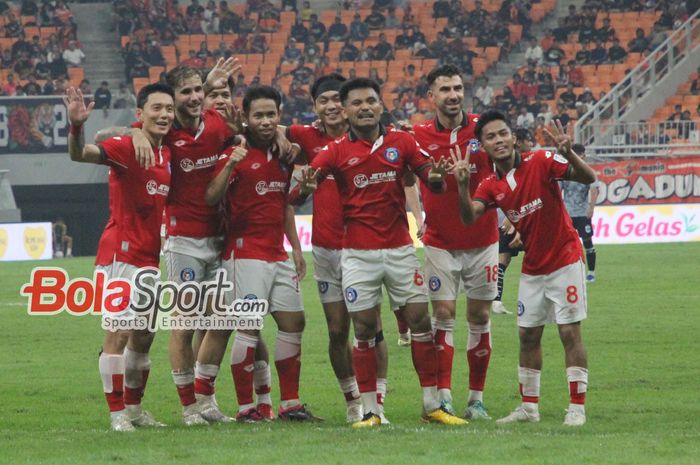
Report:
<svg viewBox="0 0 700 465"><path fill-rule="evenodd" d="M503 114L481 115L476 136L496 165L496 173L470 193L469 153L462 157L455 146L454 173L459 184L460 216L466 224L478 220L489 208L501 208L520 233L525 248L518 291L520 368L518 379L522 404L499 424L540 419L540 341L544 325L556 322L566 356L570 404L564 425L586 422L584 403L588 385L588 362L581 338L586 318L586 279L583 250L571 219L566 214L558 180L583 184L595 181L595 172L571 149L571 139L557 121L545 132L559 154L514 150L515 137Z"/></svg>

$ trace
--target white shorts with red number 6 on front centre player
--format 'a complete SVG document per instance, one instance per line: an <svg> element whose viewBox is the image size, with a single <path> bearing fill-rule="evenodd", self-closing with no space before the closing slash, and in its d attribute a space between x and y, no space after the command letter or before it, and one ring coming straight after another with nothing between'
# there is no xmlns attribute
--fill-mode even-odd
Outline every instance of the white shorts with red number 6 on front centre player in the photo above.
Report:
<svg viewBox="0 0 700 465"><path fill-rule="evenodd" d="M428 288L412 245L393 249L343 249L343 295L349 312L382 302L382 284L396 306L427 303Z"/></svg>

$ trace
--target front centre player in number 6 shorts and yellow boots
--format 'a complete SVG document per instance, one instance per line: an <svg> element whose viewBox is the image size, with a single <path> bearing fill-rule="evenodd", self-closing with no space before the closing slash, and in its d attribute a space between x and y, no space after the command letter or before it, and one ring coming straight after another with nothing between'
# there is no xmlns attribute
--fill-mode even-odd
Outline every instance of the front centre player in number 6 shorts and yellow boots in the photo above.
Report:
<svg viewBox="0 0 700 465"><path fill-rule="evenodd" d="M302 173L303 198L318 179L333 175L343 205L345 234L342 287L355 342L352 361L364 417L355 428L381 424L377 406L375 335L384 284L391 300L405 305L411 327L413 363L423 388L425 421L465 424L440 407L437 355L428 315L427 289L408 233L404 175L410 170L435 191L444 189L447 163L431 162L410 134L380 124L382 102L376 82L353 79L340 88L350 132L330 143Z"/></svg>

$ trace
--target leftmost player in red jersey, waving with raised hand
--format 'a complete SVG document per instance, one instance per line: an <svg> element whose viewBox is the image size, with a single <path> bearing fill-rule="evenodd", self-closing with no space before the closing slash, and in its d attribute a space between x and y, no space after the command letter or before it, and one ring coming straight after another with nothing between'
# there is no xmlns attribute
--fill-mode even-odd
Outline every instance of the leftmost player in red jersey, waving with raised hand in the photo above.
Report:
<svg viewBox="0 0 700 465"><path fill-rule="evenodd" d="M108 279L133 279L139 268L158 267L160 224L170 188L170 150L162 144L174 119L173 90L150 84L139 92L136 116L141 132L155 153L154 163L142 168L130 136L99 145L85 144L82 125L94 102L85 106L80 90L68 89L64 102L71 124L68 151L71 160L109 166L110 218L100 239L95 264ZM135 294L132 298L135 297ZM131 307L114 319L134 320ZM148 330L106 331L99 369L112 429L133 431L134 426L164 426L141 409L151 361L154 333Z"/></svg>

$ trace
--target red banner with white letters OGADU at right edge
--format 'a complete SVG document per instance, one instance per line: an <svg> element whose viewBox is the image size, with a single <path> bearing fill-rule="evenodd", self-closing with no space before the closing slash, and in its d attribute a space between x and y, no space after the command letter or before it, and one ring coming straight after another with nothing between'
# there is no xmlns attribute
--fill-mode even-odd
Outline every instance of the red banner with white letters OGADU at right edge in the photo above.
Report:
<svg viewBox="0 0 700 465"><path fill-rule="evenodd" d="M598 205L700 203L700 156L592 163Z"/></svg>

